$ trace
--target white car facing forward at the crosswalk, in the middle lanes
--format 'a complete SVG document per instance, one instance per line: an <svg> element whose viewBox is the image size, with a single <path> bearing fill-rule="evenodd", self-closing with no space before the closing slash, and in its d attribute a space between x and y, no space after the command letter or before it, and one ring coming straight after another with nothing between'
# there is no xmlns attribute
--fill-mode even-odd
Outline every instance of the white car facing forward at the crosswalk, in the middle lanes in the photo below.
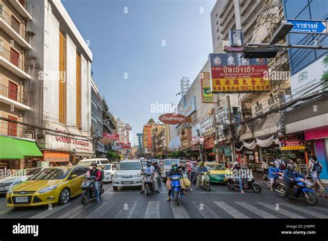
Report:
<svg viewBox="0 0 328 241"><path fill-rule="evenodd" d="M119 186L143 186L141 168L140 160L121 161L113 175L113 190Z"/></svg>

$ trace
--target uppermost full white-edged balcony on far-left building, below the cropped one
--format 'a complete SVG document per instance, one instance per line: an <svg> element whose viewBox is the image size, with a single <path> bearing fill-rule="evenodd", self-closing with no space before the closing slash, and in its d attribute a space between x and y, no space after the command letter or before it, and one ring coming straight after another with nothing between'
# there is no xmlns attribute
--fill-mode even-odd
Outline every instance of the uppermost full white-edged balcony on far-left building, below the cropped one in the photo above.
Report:
<svg viewBox="0 0 328 241"><path fill-rule="evenodd" d="M24 28L19 26L19 22L12 18L5 10L0 12L0 28L2 28L12 39L23 48L32 48L30 46L30 35Z"/></svg>

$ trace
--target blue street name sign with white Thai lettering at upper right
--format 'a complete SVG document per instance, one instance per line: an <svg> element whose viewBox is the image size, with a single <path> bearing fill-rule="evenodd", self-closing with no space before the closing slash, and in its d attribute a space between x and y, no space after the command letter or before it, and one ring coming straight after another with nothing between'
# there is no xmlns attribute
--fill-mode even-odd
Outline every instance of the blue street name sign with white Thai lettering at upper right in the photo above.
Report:
<svg viewBox="0 0 328 241"><path fill-rule="evenodd" d="M291 33L327 33L326 21L311 21L311 20L286 20L293 24Z"/></svg>

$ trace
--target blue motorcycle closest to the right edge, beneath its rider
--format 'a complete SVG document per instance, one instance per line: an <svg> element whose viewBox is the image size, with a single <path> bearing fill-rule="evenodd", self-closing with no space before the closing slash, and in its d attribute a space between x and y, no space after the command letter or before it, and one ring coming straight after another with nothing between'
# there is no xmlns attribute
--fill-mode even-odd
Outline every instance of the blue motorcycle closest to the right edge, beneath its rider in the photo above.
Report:
<svg viewBox="0 0 328 241"><path fill-rule="evenodd" d="M318 204L318 197L316 197L314 190L311 189L313 187L313 183L308 179L302 179L300 177L296 177L295 181L295 186L302 187L300 196L304 197L305 201L312 206ZM284 181L284 179L278 179L277 184L278 185L275 191L279 193L280 196L284 197L287 188L286 182ZM297 190L298 188L291 189L291 193L289 193L289 197L291 199L293 199L293 197L296 197Z"/></svg>

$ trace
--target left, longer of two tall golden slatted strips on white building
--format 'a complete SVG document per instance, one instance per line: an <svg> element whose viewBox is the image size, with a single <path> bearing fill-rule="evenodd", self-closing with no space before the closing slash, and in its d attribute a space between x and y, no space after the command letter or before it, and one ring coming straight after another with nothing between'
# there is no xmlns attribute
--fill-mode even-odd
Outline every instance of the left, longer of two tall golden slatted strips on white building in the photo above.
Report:
<svg viewBox="0 0 328 241"><path fill-rule="evenodd" d="M60 102L59 121L66 124L66 36L60 31Z"/></svg>

